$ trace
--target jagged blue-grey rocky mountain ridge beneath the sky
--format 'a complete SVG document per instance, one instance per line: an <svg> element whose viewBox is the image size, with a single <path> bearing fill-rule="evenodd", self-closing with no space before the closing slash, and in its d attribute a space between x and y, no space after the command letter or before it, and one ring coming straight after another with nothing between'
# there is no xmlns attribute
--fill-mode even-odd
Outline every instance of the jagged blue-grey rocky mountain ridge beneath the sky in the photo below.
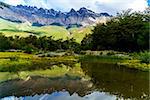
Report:
<svg viewBox="0 0 150 100"><path fill-rule="evenodd" d="M101 17L110 17L107 13L95 13L86 8L80 8L78 11L71 9L64 13L54 9L43 9L30 6L11 6L0 3L0 17L16 22L30 22L39 25L91 25Z"/></svg>

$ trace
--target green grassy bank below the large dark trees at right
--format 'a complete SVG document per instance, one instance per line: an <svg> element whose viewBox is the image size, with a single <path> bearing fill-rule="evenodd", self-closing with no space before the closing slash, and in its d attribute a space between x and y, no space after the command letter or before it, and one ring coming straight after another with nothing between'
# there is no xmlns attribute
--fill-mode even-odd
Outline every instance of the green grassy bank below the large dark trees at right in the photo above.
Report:
<svg viewBox="0 0 150 100"><path fill-rule="evenodd" d="M125 53L116 51L87 51L82 52L81 61L114 63L119 66L150 71L150 52Z"/></svg>

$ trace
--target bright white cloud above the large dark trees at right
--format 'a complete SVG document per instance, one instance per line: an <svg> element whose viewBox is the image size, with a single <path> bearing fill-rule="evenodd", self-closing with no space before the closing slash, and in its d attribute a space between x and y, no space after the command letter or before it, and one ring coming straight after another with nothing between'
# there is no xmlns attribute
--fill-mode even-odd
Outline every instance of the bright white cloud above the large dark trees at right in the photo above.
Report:
<svg viewBox="0 0 150 100"><path fill-rule="evenodd" d="M143 11L148 7L146 0L112 0L109 3L96 2L97 9L101 11L116 14L122 10L133 9L134 11Z"/></svg>

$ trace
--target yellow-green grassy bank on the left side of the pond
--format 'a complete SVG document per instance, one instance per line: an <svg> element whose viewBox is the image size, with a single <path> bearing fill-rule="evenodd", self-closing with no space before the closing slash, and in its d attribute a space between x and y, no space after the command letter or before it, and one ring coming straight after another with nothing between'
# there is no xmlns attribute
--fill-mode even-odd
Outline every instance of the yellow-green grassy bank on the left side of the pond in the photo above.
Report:
<svg viewBox="0 0 150 100"><path fill-rule="evenodd" d="M73 56L65 57L38 57L33 54L21 52L0 52L0 71L19 72L27 70L51 69L53 65L71 66L76 61Z"/></svg>

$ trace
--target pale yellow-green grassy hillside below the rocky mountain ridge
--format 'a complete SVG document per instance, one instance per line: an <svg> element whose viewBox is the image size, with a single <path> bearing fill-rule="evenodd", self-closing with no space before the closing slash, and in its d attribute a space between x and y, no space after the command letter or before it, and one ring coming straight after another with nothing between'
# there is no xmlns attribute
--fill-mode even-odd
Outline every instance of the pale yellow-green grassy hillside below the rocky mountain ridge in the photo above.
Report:
<svg viewBox="0 0 150 100"><path fill-rule="evenodd" d="M5 36L52 36L54 39L74 38L78 43L81 42L86 34L91 33L92 27L70 28L67 30L61 26L32 26L29 22L14 23L4 19L0 19L0 33Z"/></svg>

